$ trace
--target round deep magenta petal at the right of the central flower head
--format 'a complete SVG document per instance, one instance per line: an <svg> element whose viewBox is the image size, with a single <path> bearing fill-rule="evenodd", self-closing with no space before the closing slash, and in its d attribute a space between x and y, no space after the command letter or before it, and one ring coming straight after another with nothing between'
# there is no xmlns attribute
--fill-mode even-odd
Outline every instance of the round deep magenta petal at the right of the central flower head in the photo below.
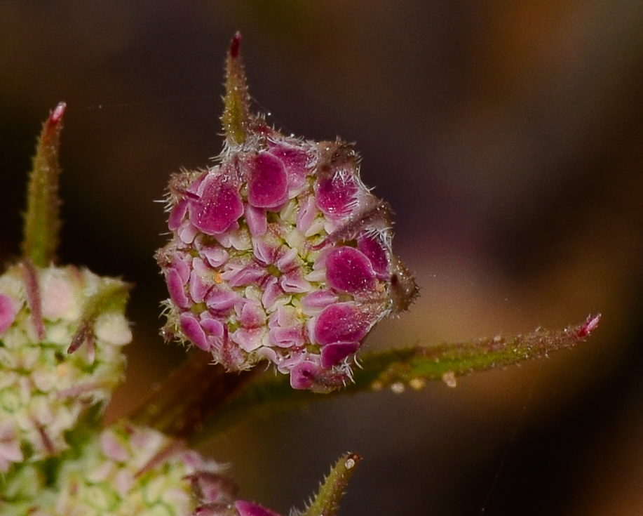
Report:
<svg viewBox="0 0 643 516"><path fill-rule="evenodd" d="M375 287L375 272L370 260L353 247L333 249L326 257L326 279L335 290L356 293Z"/></svg>

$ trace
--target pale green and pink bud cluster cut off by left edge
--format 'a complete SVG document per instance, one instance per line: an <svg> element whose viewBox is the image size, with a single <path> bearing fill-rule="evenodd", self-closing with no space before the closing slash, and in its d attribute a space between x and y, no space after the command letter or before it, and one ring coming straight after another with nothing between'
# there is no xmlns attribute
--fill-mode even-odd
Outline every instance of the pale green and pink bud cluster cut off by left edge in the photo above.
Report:
<svg viewBox="0 0 643 516"><path fill-rule="evenodd" d="M123 378L128 286L29 261L0 276L0 472L60 454Z"/></svg>

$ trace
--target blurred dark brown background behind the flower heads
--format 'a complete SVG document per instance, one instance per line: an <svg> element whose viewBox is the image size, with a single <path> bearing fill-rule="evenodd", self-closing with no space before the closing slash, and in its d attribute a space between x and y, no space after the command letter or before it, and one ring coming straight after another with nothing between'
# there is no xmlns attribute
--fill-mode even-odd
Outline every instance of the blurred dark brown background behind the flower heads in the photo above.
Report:
<svg viewBox="0 0 643 516"><path fill-rule="evenodd" d="M158 337L165 182L218 154L222 65L287 132L341 135L397 213L421 299L370 348L564 326L571 352L258 414L208 443L246 498L301 506L344 451L341 515L643 512L643 5L637 0L2 0L0 258L59 100L62 261L135 282L108 416L182 360Z"/></svg>

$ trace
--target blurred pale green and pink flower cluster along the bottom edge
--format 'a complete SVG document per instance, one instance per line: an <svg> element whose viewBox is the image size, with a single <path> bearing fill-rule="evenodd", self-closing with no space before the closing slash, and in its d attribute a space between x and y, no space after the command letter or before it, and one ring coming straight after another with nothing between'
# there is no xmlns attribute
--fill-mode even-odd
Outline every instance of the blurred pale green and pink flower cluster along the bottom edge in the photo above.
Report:
<svg viewBox="0 0 643 516"><path fill-rule="evenodd" d="M217 475L217 465L175 439L126 421L94 433L62 458L46 488L42 469L21 468L6 489L13 499L0 501L1 514L187 516L198 505L191 475Z"/></svg>

